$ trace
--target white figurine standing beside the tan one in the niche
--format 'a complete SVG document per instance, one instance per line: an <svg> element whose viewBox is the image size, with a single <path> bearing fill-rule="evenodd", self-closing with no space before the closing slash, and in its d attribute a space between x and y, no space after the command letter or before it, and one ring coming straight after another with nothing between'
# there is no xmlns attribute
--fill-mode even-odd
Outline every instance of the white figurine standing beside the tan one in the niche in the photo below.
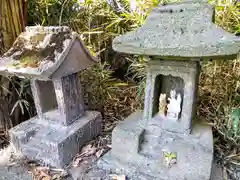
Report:
<svg viewBox="0 0 240 180"><path fill-rule="evenodd" d="M167 117L170 119L178 120L179 113L181 111L181 95L177 95L176 99L176 91L170 91L170 98L168 98L168 105L167 105Z"/></svg>

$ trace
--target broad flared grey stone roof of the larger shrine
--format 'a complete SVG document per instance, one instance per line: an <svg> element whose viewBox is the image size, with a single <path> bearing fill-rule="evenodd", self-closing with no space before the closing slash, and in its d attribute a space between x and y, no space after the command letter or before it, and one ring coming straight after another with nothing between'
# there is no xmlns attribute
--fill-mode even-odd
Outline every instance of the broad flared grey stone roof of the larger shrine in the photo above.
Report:
<svg viewBox="0 0 240 180"><path fill-rule="evenodd" d="M116 37L113 49L166 58L235 57L240 37L215 25L213 12L213 6L205 1L160 5L136 31Z"/></svg>

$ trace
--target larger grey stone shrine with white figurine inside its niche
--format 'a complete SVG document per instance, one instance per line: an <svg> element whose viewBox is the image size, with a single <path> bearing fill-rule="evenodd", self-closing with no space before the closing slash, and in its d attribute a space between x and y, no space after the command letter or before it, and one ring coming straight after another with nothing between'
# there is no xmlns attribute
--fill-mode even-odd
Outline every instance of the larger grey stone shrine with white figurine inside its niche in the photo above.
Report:
<svg viewBox="0 0 240 180"><path fill-rule="evenodd" d="M89 179L211 178L212 129L195 121L200 61L233 59L240 51L240 39L212 23L213 17L207 1L159 5L144 25L114 39L114 50L149 58L144 111L116 126L112 149Z"/></svg>

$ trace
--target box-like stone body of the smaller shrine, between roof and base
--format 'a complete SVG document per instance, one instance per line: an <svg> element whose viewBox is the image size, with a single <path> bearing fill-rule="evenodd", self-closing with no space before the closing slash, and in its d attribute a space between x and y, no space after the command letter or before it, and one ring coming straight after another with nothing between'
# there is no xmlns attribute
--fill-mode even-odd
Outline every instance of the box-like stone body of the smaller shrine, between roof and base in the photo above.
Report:
<svg viewBox="0 0 240 180"><path fill-rule="evenodd" d="M31 80L39 118L69 125L84 113L82 87L77 73L52 81Z"/></svg>

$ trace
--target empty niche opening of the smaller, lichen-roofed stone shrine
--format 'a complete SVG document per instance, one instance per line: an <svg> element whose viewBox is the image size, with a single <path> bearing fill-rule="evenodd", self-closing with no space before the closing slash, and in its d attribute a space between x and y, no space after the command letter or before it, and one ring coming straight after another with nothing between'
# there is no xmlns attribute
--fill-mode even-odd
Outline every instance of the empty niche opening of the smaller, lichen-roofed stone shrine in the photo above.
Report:
<svg viewBox="0 0 240 180"><path fill-rule="evenodd" d="M42 113L58 109L53 81L35 80L35 83L39 89L38 92Z"/></svg>

